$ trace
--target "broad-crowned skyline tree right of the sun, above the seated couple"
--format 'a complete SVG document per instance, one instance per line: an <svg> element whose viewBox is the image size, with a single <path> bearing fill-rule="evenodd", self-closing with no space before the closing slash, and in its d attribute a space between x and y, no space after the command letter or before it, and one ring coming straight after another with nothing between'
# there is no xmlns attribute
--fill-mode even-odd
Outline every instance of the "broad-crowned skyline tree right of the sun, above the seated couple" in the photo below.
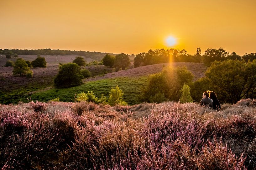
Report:
<svg viewBox="0 0 256 170"><path fill-rule="evenodd" d="M225 60L225 57L228 56L228 51L224 50L222 47L219 49L216 48L208 48L205 50L205 53L203 55L203 63L206 66L210 66L212 62L214 61L223 61Z"/></svg>

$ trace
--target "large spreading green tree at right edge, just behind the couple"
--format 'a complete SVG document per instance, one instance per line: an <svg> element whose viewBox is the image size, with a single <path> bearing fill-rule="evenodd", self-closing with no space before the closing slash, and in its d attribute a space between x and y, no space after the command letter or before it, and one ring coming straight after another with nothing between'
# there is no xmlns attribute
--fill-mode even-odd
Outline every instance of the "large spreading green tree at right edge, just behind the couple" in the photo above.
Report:
<svg viewBox="0 0 256 170"><path fill-rule="evenodd" d="M256 60L216 61L206 71L209 83L223 102L236 103L243 98L256 97Z"/></svg>

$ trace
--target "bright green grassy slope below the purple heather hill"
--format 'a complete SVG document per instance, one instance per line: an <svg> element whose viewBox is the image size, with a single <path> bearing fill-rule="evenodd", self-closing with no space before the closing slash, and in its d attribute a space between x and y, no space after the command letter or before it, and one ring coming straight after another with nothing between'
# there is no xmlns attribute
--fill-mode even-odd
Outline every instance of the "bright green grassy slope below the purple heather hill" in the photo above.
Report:
<svg viewBox="0 0 256 170"><path fill-rule="evenodd" d="M123 90L123 99L129 104L138 104L140 101L138 97L141 93L141 90L147 83L148 76L141 76L138 78L131 77L118 77L112 79L103 79L90 81L86 84L71 87L67 89L50 89L43 92L37 92L32 95L24 95L20 98L20 101L26 102L27 98L31 98L31 100L38 100L47 102L51 99L55 99L59 97L61 101L64 102L72 102L75 99L75 94L93 91L96 97L101 97L101 94L105 96L109 96L109 91L112 87L119 86L121 90ZM17 101L17 99L15 99Z"/></svg>

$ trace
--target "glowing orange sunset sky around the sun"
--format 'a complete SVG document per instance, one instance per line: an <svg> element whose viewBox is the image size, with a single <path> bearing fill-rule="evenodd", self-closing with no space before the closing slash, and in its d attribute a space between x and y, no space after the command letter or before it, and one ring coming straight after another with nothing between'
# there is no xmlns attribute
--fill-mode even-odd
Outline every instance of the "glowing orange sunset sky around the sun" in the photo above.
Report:
<svg viewBox="0 0 256 170"><path fill-rule="evenodd" d="M0 0L0 48L256 52L255 0Z"/></svg>

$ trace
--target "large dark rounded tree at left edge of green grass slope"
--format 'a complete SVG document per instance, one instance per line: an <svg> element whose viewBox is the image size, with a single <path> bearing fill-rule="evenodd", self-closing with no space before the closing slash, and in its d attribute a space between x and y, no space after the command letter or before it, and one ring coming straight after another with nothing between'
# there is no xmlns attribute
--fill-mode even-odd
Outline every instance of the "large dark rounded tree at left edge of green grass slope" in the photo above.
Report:
<svg viewBox="0 0 256 170"><path fill-rule="evenodd" d="M76 63L63 64L59 69L59 73L54 78L54 85L57 88L67 88L82 84L83 75Z"/></svg>

